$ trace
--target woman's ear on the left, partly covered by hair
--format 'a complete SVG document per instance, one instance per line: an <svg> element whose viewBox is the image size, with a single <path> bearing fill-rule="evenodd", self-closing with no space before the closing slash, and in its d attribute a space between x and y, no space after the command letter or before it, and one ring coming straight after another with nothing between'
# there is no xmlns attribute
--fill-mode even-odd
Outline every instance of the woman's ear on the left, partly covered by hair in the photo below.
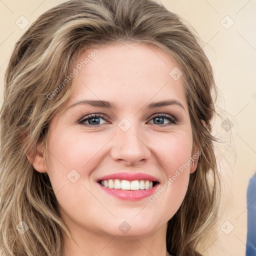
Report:
<svg viewBox="0 0 256 256"><path fill-rule="evenodd" d="M32 163L35 170L41 173L47 171L45 150L42 142L37 143L36 150L28 150L26 157Z"/></svg>

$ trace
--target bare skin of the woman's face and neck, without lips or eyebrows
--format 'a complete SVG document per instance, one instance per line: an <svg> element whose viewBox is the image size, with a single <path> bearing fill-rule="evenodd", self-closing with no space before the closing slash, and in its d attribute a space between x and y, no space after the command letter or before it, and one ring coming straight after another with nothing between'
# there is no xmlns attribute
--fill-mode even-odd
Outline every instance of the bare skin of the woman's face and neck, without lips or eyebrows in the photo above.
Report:
<svg viewBox="0 0 256 256"><path fill-rule="evenodd" d="M61 218L73 237L65 236L63 256L120 252L123 256L164 256L167 221L184 199L197 160L153 202L148 197L119 199L103 191L96 180L115 172L144 172L157 177L161 187L195 154L182 76L174 80L169 75L177 63L155 46L125 42L97 49L76 74L72 96L51 120L47 150L35 156L33 166L47 172ZM78 62L92 51L87 49ZM117 107L69 107L84 99L112 101ZM147 108L164 99L178 100L184 108L175 104ZM88 120L85 123L90 126L77 123L92 113L102 114L96 120L99 125ZM157 123L153 117L163 113L174 116L177 123L165 117ZM118 126L123 118L131 124L127 131ZM42 145L38 149L43 151ZM80 175L74 183L67 178L72 169ZM131 227L125 234L118 228L123 221Z"/></svg>

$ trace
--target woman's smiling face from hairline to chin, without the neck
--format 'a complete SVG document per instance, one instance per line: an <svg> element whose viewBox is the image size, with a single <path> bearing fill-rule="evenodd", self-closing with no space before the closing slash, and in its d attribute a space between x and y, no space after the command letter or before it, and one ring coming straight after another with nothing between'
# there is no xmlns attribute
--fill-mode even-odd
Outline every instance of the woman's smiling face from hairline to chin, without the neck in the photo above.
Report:
<svg viewBox="0 0 256 256"><path fill-rule="evenodd" d="M130 42L89 49L77 64L35 169L47 172L73 232L166 229L196 167L182 73L163 50Z"/></svg>

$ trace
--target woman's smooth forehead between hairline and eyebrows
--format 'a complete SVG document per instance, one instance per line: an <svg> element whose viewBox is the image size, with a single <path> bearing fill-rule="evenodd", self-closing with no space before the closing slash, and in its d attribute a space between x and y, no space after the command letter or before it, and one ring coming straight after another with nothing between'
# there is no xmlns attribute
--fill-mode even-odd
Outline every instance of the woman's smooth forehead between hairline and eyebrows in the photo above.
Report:
<svg viewBox="0 0 256 256"><path fill-rule="evenodd" d="M156 46L134 42L105 44L87 49L77 65L81 68L71 101L119 99L122 105L129 100L126 104L130 106L150 99L174 98L186 105L182 76L176 80L170 75L177 68L175 59Z"/></svg>

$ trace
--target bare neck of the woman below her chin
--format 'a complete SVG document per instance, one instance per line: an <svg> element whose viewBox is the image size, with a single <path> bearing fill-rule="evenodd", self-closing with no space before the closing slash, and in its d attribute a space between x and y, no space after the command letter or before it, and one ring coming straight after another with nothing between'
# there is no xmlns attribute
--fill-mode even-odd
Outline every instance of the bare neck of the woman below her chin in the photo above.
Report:
<svg viewBox="0 0 256 256"><path fill-rule="evenodd" d="M71 231L72 239L64 234L64 248L62 256L166 256L166 225L156 232L139 237L136 235L113 236L95 233L76 227ZM70 229L70 228L69 228Z"/></svg>

